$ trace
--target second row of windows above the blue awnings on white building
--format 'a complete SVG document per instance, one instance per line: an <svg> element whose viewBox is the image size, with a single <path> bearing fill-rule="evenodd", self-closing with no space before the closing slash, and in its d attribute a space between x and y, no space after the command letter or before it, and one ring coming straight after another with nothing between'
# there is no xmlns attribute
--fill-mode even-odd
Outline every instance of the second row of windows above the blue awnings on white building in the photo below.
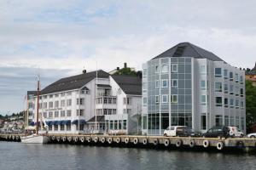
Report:
<svg viewBox="0 0 256 170"><path fill-rule="evenodd" d="M66 102L66 105L67 106L71 106L72 105L72 99L61 99L61 107L65 107L65 102ZM49 108L59 108L59 101L50 101L49 103L47 102L44 102L43 104L42 103L39 103L39 109L42 108L43 106L43 109L47 109L48 106L47 104L49 104ZM55 105L54 105L55 104ZM84 105L84 98L80 98L80 99L77 99L77 105Z"/></svg>

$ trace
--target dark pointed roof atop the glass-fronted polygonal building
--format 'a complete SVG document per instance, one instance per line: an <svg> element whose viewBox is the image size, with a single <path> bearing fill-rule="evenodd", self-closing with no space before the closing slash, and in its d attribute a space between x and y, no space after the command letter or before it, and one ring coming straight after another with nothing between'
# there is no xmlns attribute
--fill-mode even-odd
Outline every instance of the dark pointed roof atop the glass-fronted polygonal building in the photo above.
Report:
<svg viewBox="0 0 256 170"><path fill-rule="evenodd" d="M166 57L192 57L195 59L210 59L212 61L224 61L203 48L197 47L190 42L181 42L176 46L166 50L164 53L154 57L154 59Z"/></svg>

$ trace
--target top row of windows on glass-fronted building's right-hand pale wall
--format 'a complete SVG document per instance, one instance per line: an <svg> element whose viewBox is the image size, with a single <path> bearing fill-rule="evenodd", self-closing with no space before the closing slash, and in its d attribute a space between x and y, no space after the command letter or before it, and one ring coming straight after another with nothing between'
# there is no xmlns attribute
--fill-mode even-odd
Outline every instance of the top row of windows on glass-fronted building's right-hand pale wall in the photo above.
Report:
<svg viewBox="0 0 256 170"><path fill-rule="evenodd" d="M224 74L222 73L222 68L215 68L215 77L224 77L225 79L230 78L230 81L234 80L234 73L232 71L229 71L224 69ZM243 83L243 77L238 75L238 73L235 73L235 80L236 82Z"/></svg>

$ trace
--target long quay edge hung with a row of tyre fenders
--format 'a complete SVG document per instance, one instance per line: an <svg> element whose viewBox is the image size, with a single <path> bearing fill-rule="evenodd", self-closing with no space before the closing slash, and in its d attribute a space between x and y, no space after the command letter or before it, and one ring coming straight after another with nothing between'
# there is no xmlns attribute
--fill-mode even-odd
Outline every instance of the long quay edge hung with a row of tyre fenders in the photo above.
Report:
<svg viewBox="0 0 256 170"><path fill-rule="evenodd" d="M0 134L0 140L20 142L23 134ZM256 139L249 138L191 138L164 136L133 136L133 135L76 135L76 134L48 134L50 144L106 144L139 146L163 146L169 148L216 148L217 150L240 148L255 150Z"/></svg>

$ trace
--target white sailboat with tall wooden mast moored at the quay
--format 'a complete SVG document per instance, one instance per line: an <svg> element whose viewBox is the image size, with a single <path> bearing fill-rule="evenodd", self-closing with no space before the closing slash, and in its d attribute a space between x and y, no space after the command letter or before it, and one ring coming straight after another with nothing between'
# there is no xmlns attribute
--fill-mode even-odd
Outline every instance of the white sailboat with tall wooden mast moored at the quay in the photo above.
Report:
<svg viewBox="0 0 256 170"><path fill-rule="evenodd" d="M39 127L39 123L38 123L39 94L40 94L40 79L38 76L38 91L37 91L38 105L37 105L37 121L35 123L36 126L25 128L27 133L25 133L25 136L22 136L20 138L21 143L24 143L24 144L46 144L49 142L49 137L46 136L47 131L39 132L39 130L38 130L38 127ZM42 116L41 116L41 120L43 120ZM45 120L44 120L44 125L47 127ZM41 121L41 127L43 128L42 121Z"/></svg>

